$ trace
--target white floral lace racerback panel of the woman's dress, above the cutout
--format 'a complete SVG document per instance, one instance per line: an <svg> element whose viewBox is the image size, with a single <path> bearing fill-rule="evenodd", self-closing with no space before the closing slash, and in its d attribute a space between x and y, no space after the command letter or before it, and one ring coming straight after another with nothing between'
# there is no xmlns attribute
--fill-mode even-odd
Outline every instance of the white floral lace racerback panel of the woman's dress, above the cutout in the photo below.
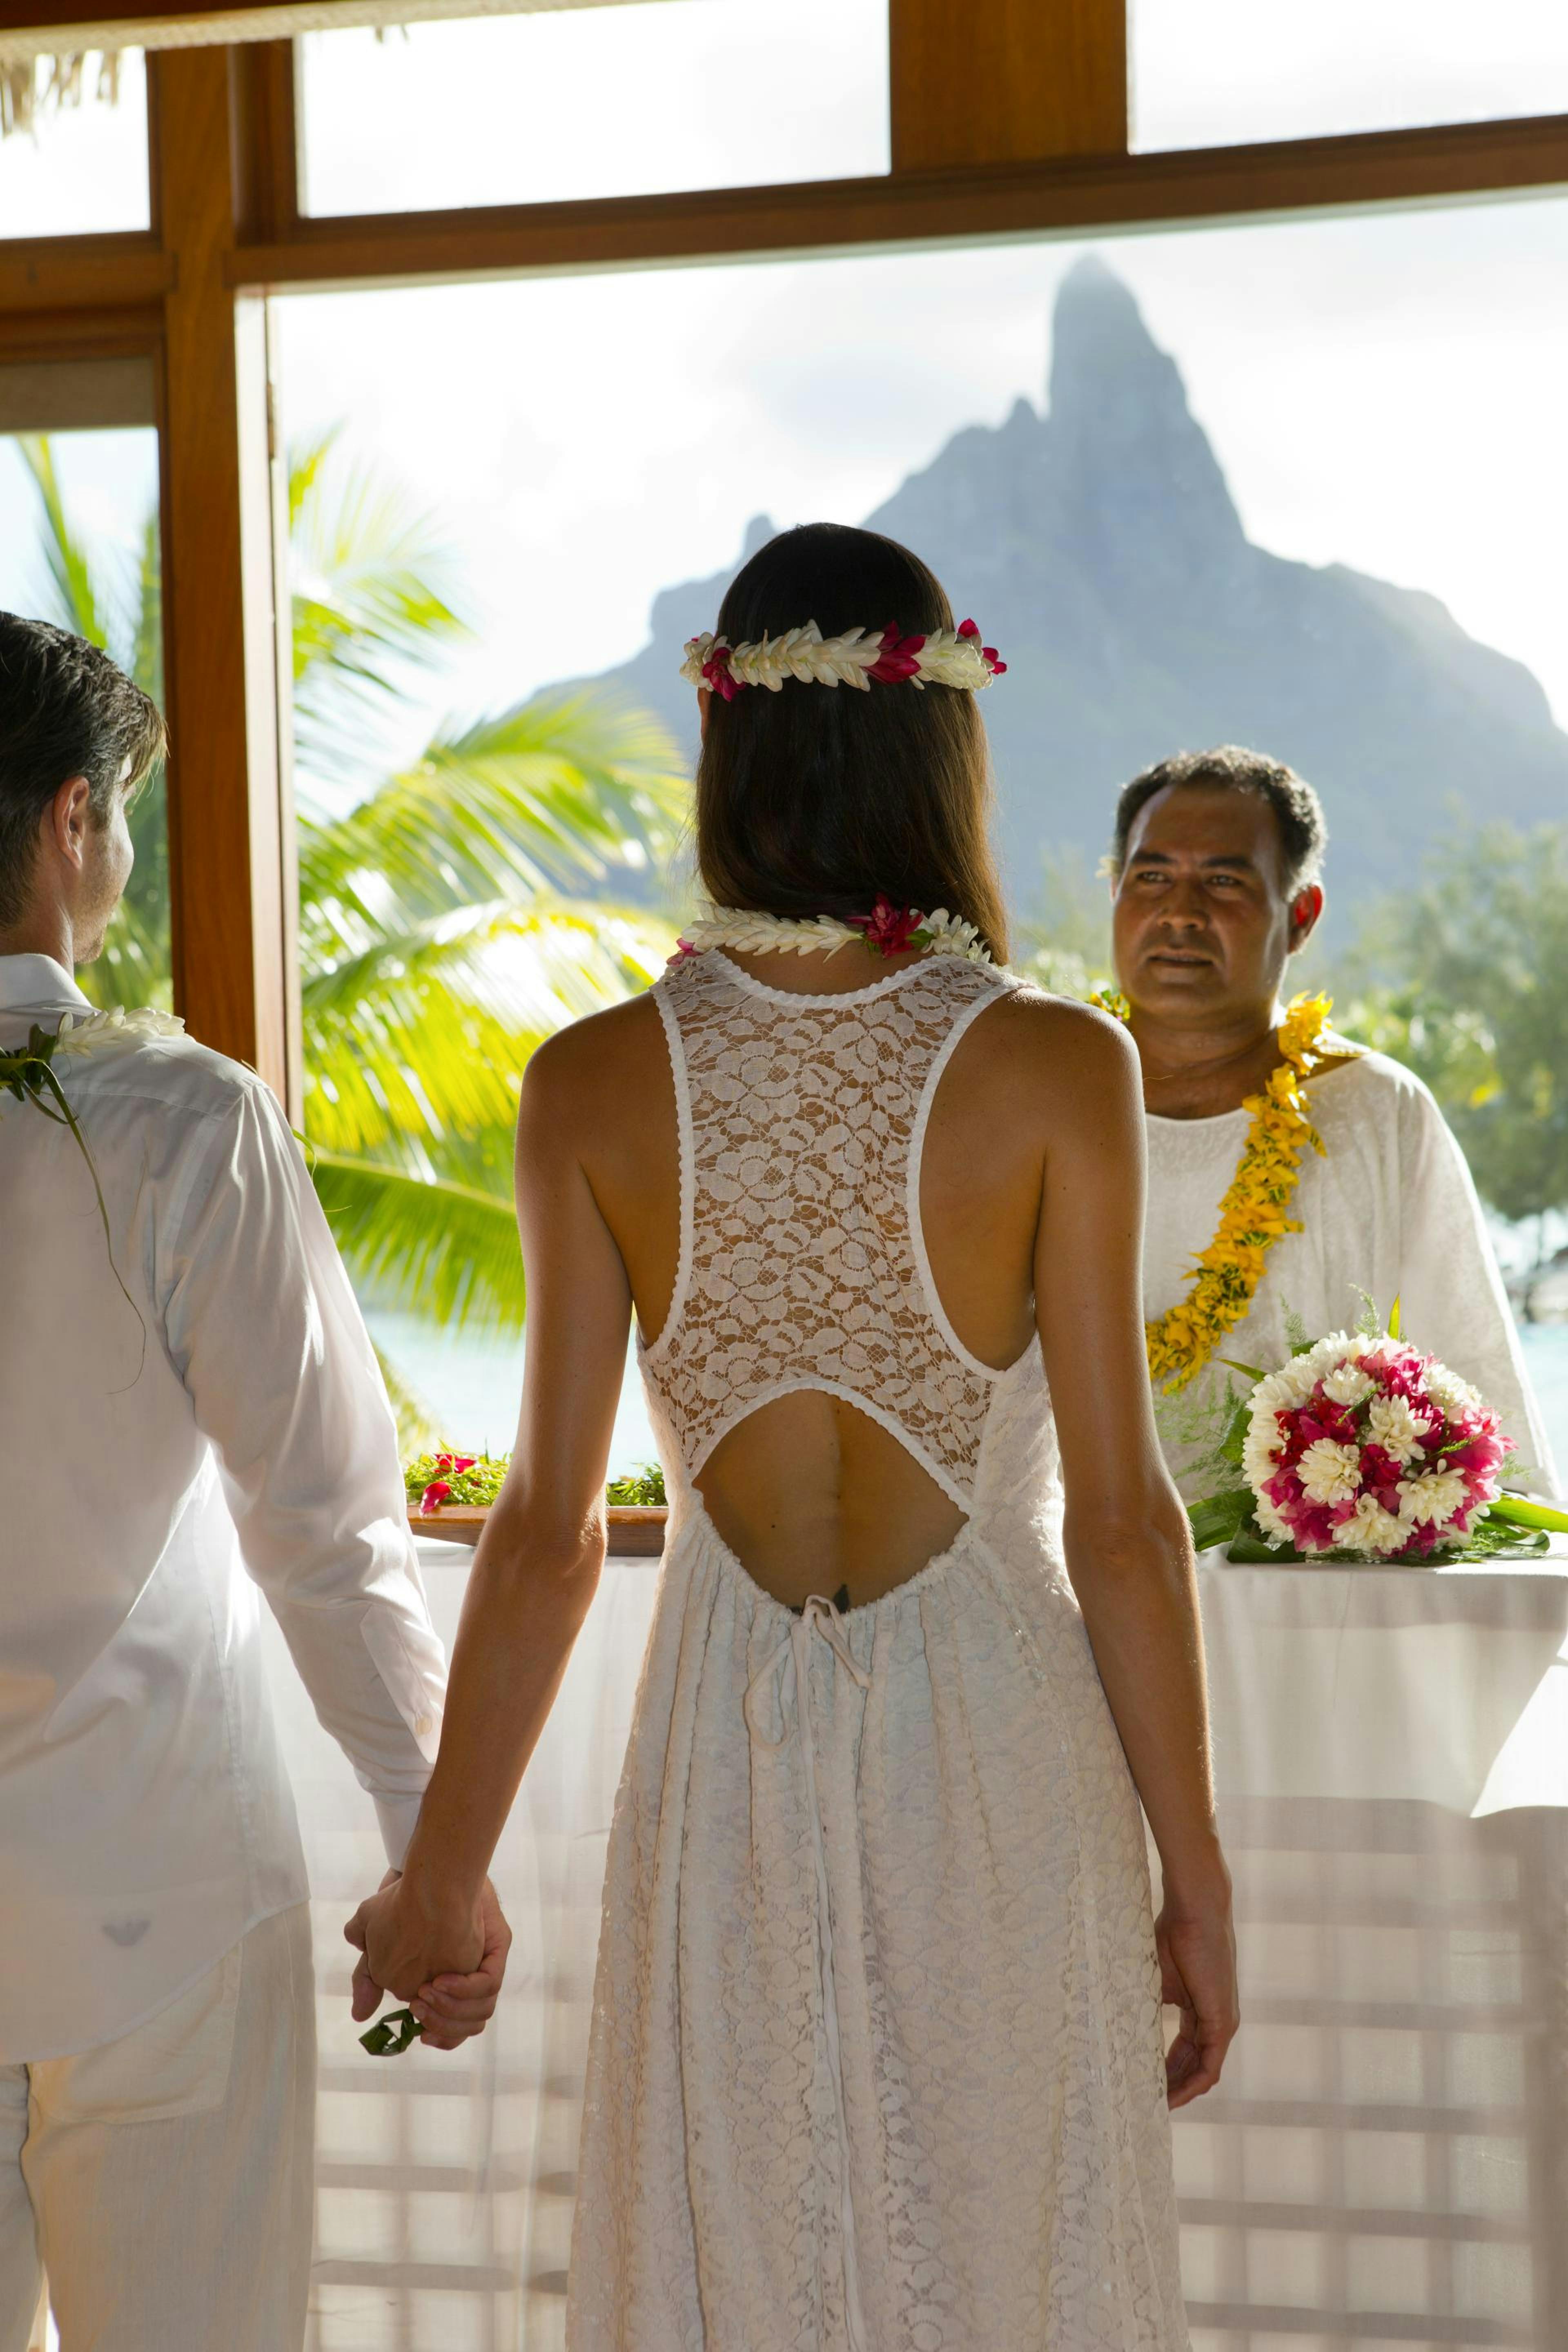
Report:
<svg viewBox="0 0 1568 2352"><path fill-rule="evenodd" d="M917 1157L943 1049L1009 983L952 957L785 997L717 950L658 983L682 1117L682 1272L644 1371L696 1475L797 1388L863 1406L964 1508L997 1374L929 1284Z"/></svg>

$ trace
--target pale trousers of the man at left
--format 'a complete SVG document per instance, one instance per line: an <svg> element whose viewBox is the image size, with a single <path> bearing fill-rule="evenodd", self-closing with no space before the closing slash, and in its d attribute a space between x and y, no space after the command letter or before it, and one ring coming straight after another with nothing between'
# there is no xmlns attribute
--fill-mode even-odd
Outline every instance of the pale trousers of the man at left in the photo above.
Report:
<svg viewBox="0 0 1568 2352"><path fill-rule="evenodd" d="M61 2352L299 2352L313 2150L299 1903L118 2042L0 2065L0 2352L42 2270Z"/></svg>

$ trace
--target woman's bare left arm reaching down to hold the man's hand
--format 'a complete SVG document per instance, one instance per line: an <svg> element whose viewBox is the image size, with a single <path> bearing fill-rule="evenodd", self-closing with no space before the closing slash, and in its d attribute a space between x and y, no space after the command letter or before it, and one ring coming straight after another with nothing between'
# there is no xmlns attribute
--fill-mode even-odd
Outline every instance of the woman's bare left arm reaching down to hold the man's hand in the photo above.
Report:
<svg viewBox="0 0 1568 2352"><path fill-rule="evenodd" d="M517 1115L517 1223L529 1338L517 1449L480 1536L447 1717L402 1879L360 1907L374 1980L428 2002L477 1964L480 1903L517 1783L559 1691L604 1564L609 1463L630 1287L578 1157L581 1044L529 1061Z"/></svg>

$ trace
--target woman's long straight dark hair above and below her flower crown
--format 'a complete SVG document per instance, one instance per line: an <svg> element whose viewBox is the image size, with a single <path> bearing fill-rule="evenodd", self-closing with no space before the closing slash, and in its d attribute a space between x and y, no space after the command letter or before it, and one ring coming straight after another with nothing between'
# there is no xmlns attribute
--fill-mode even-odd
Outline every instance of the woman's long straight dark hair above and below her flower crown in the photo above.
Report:
<svg viewBox="0 0 1568 2352"><path fill-rule="evenodd" d="M769 539L719 607L729 644L816 621L929 635L952 604L919 555L879 532L804 522ZM696 861L717 906L867 915L879 891L947 908L1006 960L985 720L966 687L818 687L785 680L708 706L696 769Z"/></svg>

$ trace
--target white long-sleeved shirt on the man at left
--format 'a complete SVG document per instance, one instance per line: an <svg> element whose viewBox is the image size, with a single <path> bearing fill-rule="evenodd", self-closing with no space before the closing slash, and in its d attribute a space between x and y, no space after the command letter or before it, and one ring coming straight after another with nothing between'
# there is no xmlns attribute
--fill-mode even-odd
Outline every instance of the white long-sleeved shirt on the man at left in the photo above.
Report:
<svg viewBox="0 0 1568 2352"><path fill-rule="evenodd" d="M0 957L0 1047L89 1011ZM186 1037L0 1094L0 2063L108 2042L306 1898L266 1595L393 1863L444 1658L376 1359L287 1122ZM249 1573L244 1573L249 1571Z"/></svg>

